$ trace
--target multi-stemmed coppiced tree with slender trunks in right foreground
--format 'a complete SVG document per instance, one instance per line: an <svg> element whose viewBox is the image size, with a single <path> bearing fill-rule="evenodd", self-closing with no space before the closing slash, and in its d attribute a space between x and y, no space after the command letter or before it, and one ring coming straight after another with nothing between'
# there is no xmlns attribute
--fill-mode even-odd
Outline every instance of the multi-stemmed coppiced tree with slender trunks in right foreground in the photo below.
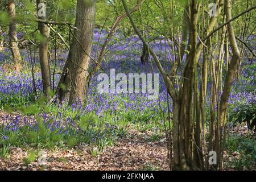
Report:
<svg viewBox="0 0 256 182"><path fill-rule="evenodd" d="M217 4L217 15L221 13L221 9L224 6L224 0L216 0ZM214 29L216 25L217 18L209 19L208 30L203 28L203 38L198 41L198 32L199 28L197 28L197 24L199 23L199 15L200 15L200 1L191 0L188 3L188 15L189 15L189 29L188 29L188 50L187 56L185 60L185 66L181 70L183 72L183 77L179 78L180 83L176 84L174 79L176 78L174 75L168 75L160 63L158 56L156 56L155 52L148 46L146 39L144 39L141 32L136 27L133 18L131 17L129 10L126 5L126 0L122 0L123 6L125 7L125 11L130 19L130 22L144 44L146 44L147 49L155 60L155 63L164 78L164 82L167 86L167 91L172 98L173 108L172 108L172 121L173 121L173 152L174 152L174 169L204 169L204 162L207 163L207 151L205 150L205 138L204 138L204 151L202 143L202 136L205 137L205 131L203 134L203 127L205 130L205 94L207 88L207 69L208 69L208 61L209 61L209 49L211 46L209 38L217 32L218 30L222 30L222 37L225 38L225 26L228 25L228 34L230 47L232 48L232 60L228 65L228 72L226 73L224 89L221 94L221 99L218 99L218 87L221 88L221 57L218 58L218 64L211 65L210 72L214 75L214 83L213 89L211 90L211 95L214 96L212 99L214 103L217 104L217 114L216 114L216 104L213 103L211 107L211 115L210 115L210 138L212 138L212 143L209 142L208 149L215 150L217 153L217 166L218 169L222 169L222 156L223 156L223 143L225 135L223 134L223 130L225 129L225 121L226 121L226 112L228 108L228 98L230 94L230 90L232 87L232 82L235 77L235 72L237 69L238 61L240 60L240 51L238 49L236 43L236 36L234 35L234 30L232 27L232 22L234 19L237 19L241 15L248 13L249 11L255 9L256 7L251 7L246 11L238 14L234 18L231 16L231 0L225 0L225 16L226 22L224 20L223 24L218 28ZM201 11L204 14L204 9ZM204 23L203 20L203 26ZM222 42L216 43L220 49L223 49L224 40ZM209 42L208 42L209 41ZM204 47L206 50L204 50ZM199 69L197 69L197 65L199 63L199 55L204 50L203 55L203 68L201 68L201 77L199 76ZM212 62L214 62L214 56L212 55ZM218 53L218 56L220 53ZM177 64L179 67L179 64ZM216 69L217 68L217 69ZM171 73L174 74L177 67L172 67ZM212 73L213 72L213 73ZM216 77L216 78L215 78ZM180 85L180 86L179 86ZM201 89L199 89L199 85L201 85ZM179 88L179 89L175 89ZM221 89L220 89L221 90ZM201 92L201 93L200 93ZM216 101L216 102L215 102ZM200 107L200 105L203 105ZM204 112L204 113L202 113ZM204 126L203 126L204 125ZM212 130L212 131L211 131ZM214 145L214 147L212 147ZM203 155L204 154L204 158ZM207 165L205 165L207 169Z"/></svg>

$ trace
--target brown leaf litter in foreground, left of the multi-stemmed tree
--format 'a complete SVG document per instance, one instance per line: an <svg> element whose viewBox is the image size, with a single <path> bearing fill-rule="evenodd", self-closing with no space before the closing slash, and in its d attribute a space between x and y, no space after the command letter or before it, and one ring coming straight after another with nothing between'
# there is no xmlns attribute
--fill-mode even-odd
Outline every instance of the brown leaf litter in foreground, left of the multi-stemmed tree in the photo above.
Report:
<svg viewBox="0 0 256 182"><path fill-rule="evenodd" d="M24 165L24 158L35 148L11 147L10 155L0 158L0 170L168 170L166 142L152 142L150 136L131 130L96 156L92 155L90 144L43 150L47 160L43 168L37 161Z"/></svg>

